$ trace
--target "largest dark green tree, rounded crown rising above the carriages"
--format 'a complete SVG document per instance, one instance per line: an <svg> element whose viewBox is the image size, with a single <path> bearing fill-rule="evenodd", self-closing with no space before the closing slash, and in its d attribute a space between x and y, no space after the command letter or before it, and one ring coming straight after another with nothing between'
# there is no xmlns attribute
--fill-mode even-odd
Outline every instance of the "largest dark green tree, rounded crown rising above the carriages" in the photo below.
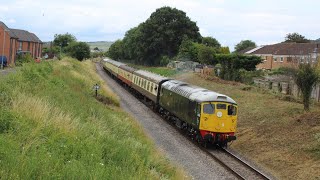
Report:
<svg viewBox="0 0 320 180"><path fill-rule="evenodd" d="M158 65L162 56L172 58L177 55L184 37L201 41L196 23L181 10L162 7L144 23L126 33L123 52L125 57L136 62Z"/></svg>

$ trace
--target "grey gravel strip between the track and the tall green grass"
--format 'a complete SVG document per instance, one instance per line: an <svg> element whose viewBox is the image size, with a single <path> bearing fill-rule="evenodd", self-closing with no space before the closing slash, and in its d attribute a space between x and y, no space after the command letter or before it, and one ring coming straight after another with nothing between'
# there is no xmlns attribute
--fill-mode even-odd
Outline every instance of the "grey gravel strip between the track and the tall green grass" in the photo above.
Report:
<svg viewBox="0 0 320 180"><path fill-rule="evenodd" d="M143 126L156 146L172 162L182 166L189 176L193 179L235 179L217 162L214 162L176 129L111 79L99 63L96 64L96 67L98 74L120 97L121 107Z"/></svg>

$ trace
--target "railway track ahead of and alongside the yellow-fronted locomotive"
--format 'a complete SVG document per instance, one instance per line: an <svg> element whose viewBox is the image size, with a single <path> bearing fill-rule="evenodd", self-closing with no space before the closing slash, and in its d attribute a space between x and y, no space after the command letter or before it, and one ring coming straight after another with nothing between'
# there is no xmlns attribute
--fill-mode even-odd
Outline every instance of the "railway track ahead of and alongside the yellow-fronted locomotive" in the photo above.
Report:
<svg viewBox="0 0 320 180"><path fill-rule="evenodd" d="M125 89L127 91L129 91L127 88L125 88ZM135 97L137 99L139 99L140 102L142 102L143 104L145 104L146 106L148 106L150 108L150 105L147 104L146 102L144 102L143 99L140 99L137 96L135 96ZM177 131L179 131L183 136L187 137L187 139L192 141L192 143L194 143L196 146L198 146L204 153L206 153L214 161L218 162L222 167L224 167L227 171L229 171L236 178L238 178L238 179L271 179L270 177L268 177L267 175L262 173L257 168L255 168L252 165L248 164L247 162L243 161L241 158L236 156L234 153L232 153L228 149L220 148L220 147L205 148L205 147L201 146L196 141L191 140L191 138L188 135L186 135L185 131L182 131L181 129L177 128L175 126L175 124L168 121L165 117L163 117L158 112L155 112L155 113L159 117L161 117L162 120L168 122L171 126L174 126Z"/></svg>

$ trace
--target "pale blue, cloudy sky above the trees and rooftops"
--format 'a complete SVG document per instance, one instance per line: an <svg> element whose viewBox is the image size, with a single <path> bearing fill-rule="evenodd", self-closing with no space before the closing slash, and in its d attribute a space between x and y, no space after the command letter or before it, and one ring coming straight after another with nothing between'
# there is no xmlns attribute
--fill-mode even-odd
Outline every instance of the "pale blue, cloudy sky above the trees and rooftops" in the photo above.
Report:
<svg viewBox="0 0 320 180"><path fill-rule="evenodd" d="M319 0L0 0L0 21L42 41L67 32L79 41L115 41L163 6L186 12L202 36L231 50L241 40L274 44L293 32L320 38Z"/></svg>

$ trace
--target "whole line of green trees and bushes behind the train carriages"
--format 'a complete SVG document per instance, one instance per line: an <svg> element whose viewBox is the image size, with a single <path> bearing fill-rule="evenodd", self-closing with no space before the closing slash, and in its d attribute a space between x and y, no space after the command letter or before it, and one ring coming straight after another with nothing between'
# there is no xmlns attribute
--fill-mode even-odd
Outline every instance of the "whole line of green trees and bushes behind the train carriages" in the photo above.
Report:
<svg viewBox="0 0 320 180"><path fill-rule="evenodd" d="M241 47L247 45L245 43ZM171 7L157 9L145 22L127 31L124 38L112 44L108 51L108 56L115 60L132 60L136 64L153 66L166 65L170 60L215 65L221 59L218 54L233 59L230 62L246 59L231 55L229 48L222 47L215 38L202 37L196 22L185 12ZM260 62L258 57L253 59Z"/></svg>

